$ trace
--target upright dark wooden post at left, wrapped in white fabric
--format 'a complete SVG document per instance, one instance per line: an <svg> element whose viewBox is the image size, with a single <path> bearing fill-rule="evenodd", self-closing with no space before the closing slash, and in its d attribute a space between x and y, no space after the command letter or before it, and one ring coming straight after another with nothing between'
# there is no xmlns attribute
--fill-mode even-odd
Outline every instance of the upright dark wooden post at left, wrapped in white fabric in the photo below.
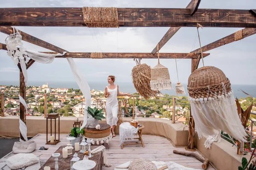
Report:
<svg viewBox="0 0 256 170"><path fill-rule="evenodd" d="M24 81L24 76L22 71L20 70L20 96L26 101L26 85ZM26 109L20 102L20 119L25 123L26 125ZM20 139L25 141L23 136L20 133Z"/></svg>

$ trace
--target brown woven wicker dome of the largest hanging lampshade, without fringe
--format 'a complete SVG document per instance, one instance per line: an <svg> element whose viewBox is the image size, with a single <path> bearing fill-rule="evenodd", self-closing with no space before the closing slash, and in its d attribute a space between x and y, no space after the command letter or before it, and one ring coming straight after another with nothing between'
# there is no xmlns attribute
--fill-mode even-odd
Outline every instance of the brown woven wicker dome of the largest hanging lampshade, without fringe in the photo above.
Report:
<svg viewBox="0 0 256 170"><path fill-rule="evenodd" d="M224 87L223 88L223 84ZM205 66L193 71L188 80L189 96L195 99L227 95L231 91L230 81L223 71Z"/></svg>

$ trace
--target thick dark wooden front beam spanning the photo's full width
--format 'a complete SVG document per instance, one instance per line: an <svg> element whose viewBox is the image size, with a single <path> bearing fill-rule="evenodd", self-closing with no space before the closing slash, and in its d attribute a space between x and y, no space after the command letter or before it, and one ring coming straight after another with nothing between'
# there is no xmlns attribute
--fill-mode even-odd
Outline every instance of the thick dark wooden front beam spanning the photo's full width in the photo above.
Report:
<svg viewBox="0 0 256 170"><path fill-rule="evenodd" d="M187 8L118 8L124 27L256 27L250 10ZM0 26L85 26L82 8L0 8Z"/></svg>

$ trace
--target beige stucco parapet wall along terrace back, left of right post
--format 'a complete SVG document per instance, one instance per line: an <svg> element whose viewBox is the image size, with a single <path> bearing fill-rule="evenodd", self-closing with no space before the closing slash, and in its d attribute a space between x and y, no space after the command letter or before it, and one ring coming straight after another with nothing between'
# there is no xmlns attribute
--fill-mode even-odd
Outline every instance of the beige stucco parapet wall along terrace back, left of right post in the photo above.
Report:
<svg viewBox="0 0 256 170"><path fill-rule="evenodd" d="M73 127L74 121L79 119L83 121L83 117L60 117L60 133L67 134ZM54 120L54 119L52 119ZM130 122L131 118L124 118L124 122ZM157 135L169 139L175 147L183 147L187 145L188 129L182 123L172 123L170 120L159 118L138 118L139 123L143 124L144 135ZM48 130L49 130L48 120ZM102 123L106 123L103 119ZM26 116L26 125L28 128L27 135L35 136L38 133L46 133L46 119L43 116ZM58 131L58 119L56 121ZM54 129L54 121L52 121L52 129ZM118 127L115 132L118 134ZM2 137L19 137L19 116L4 116L0 117L0 136Z"/></svg>

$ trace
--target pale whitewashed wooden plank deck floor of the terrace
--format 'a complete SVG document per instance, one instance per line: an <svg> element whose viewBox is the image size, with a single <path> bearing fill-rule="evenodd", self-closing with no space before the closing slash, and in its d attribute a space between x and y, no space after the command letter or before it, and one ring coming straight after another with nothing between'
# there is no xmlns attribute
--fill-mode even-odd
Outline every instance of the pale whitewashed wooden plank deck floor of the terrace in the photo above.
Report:
<svg viewBox="0 0 256 170"><path fill-rule="evenodd" d="M37 149L33 153L36 156L40 156L41 165L50 158L52 153L54 153L58 147L69 143L66 137L67 135L61 135L61 142L57 145L46 145L46 134L38 134L32 139L37 143ZM119 136L114 137L109 145L105 144L108 161L112 164L112 167L102 167L102 170L113 170L115 166L137 158L145 158L151 161L174 161L186 167L202 169L202 163L197 159L174 154L173 150L186 150L181 147L174 147L168 139L159 136L143 135L143 142L145 144L144 148L142 145L129 145L124 146L124 148L121 149L119 147ZM41 146L49 147L49 149L39 150ZM11 155L12 153L4 158L8 158ZM207 170L214 170L214 168L209 165Z"/></svg>

